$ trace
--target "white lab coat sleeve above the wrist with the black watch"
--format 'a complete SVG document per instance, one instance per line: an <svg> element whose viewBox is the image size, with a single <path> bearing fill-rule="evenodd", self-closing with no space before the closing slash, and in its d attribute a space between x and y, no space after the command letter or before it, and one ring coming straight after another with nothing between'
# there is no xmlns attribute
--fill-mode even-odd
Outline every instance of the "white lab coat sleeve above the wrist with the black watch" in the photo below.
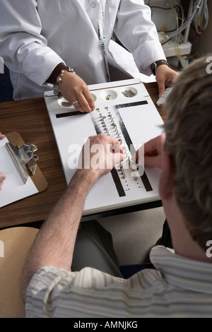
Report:
<svg viewBox="0 0 212 332"><path fill-rule="evenodd" d="M150 65L154 61L166 59L157 29L151 20L151 8L142 0L120 2L114 32L133 54L138 69L146 75L151 75Z"/></svg>

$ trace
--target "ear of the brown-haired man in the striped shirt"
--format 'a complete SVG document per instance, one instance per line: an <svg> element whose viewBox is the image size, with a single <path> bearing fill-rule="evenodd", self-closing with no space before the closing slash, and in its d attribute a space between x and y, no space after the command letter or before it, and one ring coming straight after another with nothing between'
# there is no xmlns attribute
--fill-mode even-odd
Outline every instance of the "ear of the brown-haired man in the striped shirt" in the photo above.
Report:
<svg viewBox="0 0 212 332"><path fill-rule="evenodd" d="M174 167L172 158L163 153L161 161L161 174L159 183L160 198L167 199L172 196L174 190Z"/></svg>

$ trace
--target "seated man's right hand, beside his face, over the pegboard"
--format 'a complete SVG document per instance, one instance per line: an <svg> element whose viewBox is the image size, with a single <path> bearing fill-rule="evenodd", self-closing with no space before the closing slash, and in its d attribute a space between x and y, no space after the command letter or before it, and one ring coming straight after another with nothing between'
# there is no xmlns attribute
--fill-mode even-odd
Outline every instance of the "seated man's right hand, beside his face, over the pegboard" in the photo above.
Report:
<svg viewBox="0 0 212 332"><path fill-rule="evenodd" d="M163 146L165 143L165 135L152 138L144 143L144 167L158 167L161 169L161 157L163 154ZM136 162L139 164L140 151L136 151Z"/></svg>

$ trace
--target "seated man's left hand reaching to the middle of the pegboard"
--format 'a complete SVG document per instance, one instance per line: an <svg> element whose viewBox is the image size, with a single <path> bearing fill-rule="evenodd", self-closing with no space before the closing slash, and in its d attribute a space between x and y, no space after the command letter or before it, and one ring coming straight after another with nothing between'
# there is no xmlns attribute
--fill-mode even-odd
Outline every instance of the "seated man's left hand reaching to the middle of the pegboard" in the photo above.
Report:
<svg viewBox="0 0 212 332"><path fill-rule="evenodd" d="M90 136L83 146L78 171L89 173L93 176L93 181L96 181L123 159L123 149L116 138L105 134Z"/></svg>

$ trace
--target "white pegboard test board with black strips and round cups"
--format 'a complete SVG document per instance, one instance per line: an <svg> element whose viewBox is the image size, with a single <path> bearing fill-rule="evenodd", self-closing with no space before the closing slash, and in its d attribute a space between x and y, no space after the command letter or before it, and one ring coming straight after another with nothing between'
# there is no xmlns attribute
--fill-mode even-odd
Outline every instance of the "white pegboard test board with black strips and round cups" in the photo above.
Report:
<svg viewBox="0 0 212 332"><path fill-rule="evenodd" d="M88 114L79 114L73 106L64 104L63 98L53 96L52 91L45 93L67 184L76 172L70 163L73 153L76 155L74 145L82 148L89 136L104 133L117 138L124 148L123 165L116 165L94 184L86 198L83 215L158 201L160 170L146 167L140 176L129 167L134 151L163 132L163 120L145 86L140 79L131 79L88 85L88 88L96 107Z"/></svg>

